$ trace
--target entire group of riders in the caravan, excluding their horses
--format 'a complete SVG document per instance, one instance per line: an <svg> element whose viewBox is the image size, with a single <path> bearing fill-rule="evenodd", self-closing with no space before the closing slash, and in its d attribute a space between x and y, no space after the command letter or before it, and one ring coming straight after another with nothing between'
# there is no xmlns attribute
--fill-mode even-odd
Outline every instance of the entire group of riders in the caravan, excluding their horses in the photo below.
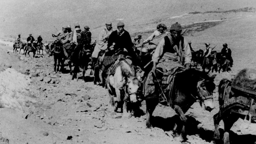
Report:
<svg viewBox="0 0 256 144"><path fill-rule="evenodd" d="M141 35L131 39L128 31L124 29L124 23L117 23L117 30L113 30L112 23L105 23L105 28L99 33L97 42L91 42L91 32L89 26L84 26L81 31L80 25L75 23L74 32L71 26L63 26L61 31L52 34L56 37L56 41L51 45L51 54L58 52L56 46L61 46L64 59L72 62L72 53L75 49L90 52L90 61L88 68L94 69L94 84L105 86L105 77L108 68L120 56L124 56L126 61L137 69L137 71L146 71L146 64L151 63L149 70L156 72L167 72L175 67L184 69L191 68L192 50L191 42L182 36L182 27L179 23L174 23L167 31L165 24L157 25L157 30L153 32L147 39L143 39ZM162 36L162 37L161 37ZM154 39L161 38L157 43ZM42 37L39 36L37 41L29 34L27 38L28 47L42 45ZM16 38L15 44L20 45L20 34ZM206 43L206 49L203 51L203 64L210 63L212 56L212 48ZM227 44L223 44L221 55L233 63L231 50ZM146 65L146 66L145 66ZM156 70L160 69L160 70ZM56 69L55 69L56 70ZM102 82L100 83L100 70L102 71ZM144 75L145 76L145 75Z"/></svg>

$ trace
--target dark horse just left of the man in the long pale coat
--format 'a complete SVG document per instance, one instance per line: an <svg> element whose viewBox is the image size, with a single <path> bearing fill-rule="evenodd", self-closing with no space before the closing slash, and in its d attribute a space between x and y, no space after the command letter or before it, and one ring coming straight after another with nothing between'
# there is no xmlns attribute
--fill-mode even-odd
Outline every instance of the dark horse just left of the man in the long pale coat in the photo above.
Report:
<svg viewBox="0 0 256 144"><path fill-rule="evenodd" d="M71 62L75 65L72 80L77 77L77 73L80 71L79 67L83 67L83 80L85 80L85 71L86 69L91 68L91 53L91 48L90 46L88 47L88 45L78 44L74 48L70 56ZM69 68L71 70L71 63L69 63Z"/></svg>

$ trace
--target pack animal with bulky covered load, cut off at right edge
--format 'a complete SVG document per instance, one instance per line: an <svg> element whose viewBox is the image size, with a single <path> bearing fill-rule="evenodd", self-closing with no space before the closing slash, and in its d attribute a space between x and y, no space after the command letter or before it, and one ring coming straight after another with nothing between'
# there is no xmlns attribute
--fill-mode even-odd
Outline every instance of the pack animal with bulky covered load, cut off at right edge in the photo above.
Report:
<svg viewBox="0 0 256 144"><path fill-rule="evenodd" d="M221 141L219 122L224 122L224 144L229 144L230 128L238 120L256 123L256 70L243 69L229 81L219 83L219 112L214 115L214 141ZM253 143L256 142L253 141ZM223 142L222 142L223 143ZM246 143L246 142L245 142Z"/></svg>

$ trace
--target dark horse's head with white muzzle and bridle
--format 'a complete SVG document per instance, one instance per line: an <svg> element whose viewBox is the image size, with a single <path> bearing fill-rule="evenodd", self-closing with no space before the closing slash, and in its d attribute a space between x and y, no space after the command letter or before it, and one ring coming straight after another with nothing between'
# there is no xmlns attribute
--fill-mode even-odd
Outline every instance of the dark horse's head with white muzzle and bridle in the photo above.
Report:
<svg viewBox="0 0 256 144"><path fill-rule="evenodd" d="M197 92L200 99L200 105L208 111L214 109L213 91L215 89L215 77L216 75L213 75L207 79L200 80L197 83Z"/></svg>

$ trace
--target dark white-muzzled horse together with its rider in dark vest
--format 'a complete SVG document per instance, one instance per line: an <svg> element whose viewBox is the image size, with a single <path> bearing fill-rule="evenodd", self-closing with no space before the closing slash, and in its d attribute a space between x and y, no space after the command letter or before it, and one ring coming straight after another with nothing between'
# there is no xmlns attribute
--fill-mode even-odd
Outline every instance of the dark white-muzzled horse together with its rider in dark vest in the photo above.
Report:
<svg viewBox="0 0 256 144"><path fill-rule="evenodd" d="M196 100L200 100L208 111L214 108L212 93L216 75L209 77L204 72L190 69L192 54L181 31L181 25L174 23L170 35L157 45L152 56L152 72L143 82L143 94L146 99L147 127L151 127L152 113L158 103L170 106L182 121L182 125L174 130L175 135L181 133L181 138L185 140L187 118L184 113Z"/></svg>

